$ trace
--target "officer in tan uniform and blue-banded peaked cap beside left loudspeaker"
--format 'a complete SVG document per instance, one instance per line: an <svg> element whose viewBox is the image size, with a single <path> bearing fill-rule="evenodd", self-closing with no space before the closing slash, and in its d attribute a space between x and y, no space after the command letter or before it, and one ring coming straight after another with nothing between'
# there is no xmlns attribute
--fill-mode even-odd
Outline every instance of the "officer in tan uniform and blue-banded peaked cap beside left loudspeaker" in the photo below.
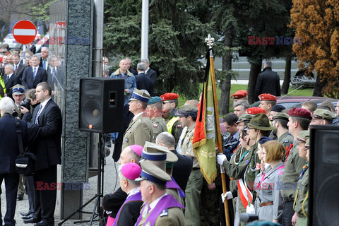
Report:
<svg viewBox="0 0 339 226"><path fill-rule="evenodd" d="M124 150L129 145L143 146L146 141L153 141L152 122L149 117L143 115L145 114L148 100L150 100L150 95L147 90L134 89L129 100L129 111L134 114L134 117L129 124L129 128L124 133L121 150Z"/></svg>

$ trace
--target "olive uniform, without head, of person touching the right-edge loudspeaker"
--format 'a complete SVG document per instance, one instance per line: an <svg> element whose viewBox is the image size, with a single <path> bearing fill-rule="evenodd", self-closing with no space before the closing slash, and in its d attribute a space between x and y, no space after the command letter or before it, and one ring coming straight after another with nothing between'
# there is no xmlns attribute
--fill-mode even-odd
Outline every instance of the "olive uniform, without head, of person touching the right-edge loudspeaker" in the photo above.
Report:
<svg viewBox="0 0 339 226"><path fill-rule="evenodd" d="M308 197L309 197L309 170L307 165L304 166L305 170L300 175L295 202L293 203L293 209L297 213L297 226L307 226L307 214L308 214Z"/></svg>

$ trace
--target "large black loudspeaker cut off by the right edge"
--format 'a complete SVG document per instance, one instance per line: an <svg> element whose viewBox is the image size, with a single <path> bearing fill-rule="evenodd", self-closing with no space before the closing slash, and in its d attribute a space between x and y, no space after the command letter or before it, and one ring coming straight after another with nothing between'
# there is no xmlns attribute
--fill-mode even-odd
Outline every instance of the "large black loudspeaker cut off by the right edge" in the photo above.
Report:
<svg viewBox="0 0 339 226"><path fill-rule="evenodd" d="M339 225L339 126L311 126L309 224Z"/></svg>

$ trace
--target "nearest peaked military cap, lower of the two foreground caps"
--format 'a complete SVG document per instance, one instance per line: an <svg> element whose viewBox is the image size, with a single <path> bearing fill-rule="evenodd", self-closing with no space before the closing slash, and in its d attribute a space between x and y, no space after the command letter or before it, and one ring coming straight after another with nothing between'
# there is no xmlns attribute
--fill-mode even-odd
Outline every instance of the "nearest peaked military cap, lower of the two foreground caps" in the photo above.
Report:
<svg viewBox="0 0 339 226"><path fill-rule="evenodd" d="M166 185L166 182L170 182L172 179L169 177L169 174L164 170L157 167L152 162L140 162L141 165L141 175L137 179L137 182L143 180L148 180L160 185Z"/></svg>

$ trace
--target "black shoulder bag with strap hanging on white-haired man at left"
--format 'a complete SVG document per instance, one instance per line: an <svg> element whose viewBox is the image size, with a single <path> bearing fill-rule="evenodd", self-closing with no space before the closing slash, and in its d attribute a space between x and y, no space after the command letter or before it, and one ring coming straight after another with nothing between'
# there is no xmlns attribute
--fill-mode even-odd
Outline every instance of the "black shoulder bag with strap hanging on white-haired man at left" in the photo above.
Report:
<svg viewBox="0 0 339 226"><path fill-rule="evenodd" d="M23 150L23 138L21 136L20 121L14 117L16 123L16 133L18 134L19 155L16 157L16 172L30 176L34 174L37 167L37 157L30 152Z"/></svg>

